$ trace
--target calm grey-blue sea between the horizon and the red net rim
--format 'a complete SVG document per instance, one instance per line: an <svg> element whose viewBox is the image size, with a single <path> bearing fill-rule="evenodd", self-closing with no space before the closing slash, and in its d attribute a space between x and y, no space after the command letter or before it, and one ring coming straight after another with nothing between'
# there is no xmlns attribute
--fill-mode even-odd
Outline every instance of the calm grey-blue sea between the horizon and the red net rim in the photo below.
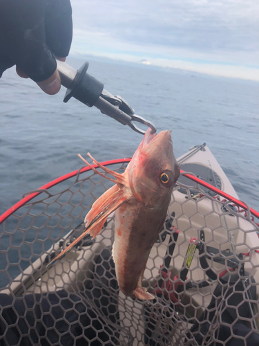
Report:
<svg viewBox="0 0 259 346"><path fill-rule="evenodd" d="M131 104L158 131L172 129L175 156L207 143L240 199L259 210L259 83L153 66L89 59L88 73ZM84 60L68 59L76 69ZM65 89L49 96L15 69L0 79L0 215L53 179L77 170L77 157L132 156L142 135Z"/></svg>

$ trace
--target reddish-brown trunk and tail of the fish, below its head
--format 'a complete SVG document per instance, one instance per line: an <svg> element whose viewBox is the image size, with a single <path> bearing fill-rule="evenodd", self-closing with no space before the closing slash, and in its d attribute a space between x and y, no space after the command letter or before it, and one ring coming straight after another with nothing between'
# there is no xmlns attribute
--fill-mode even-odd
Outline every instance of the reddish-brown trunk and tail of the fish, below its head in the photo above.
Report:
<svg viewBox="0 0 259 346"><path fill-rule="evenodd" d="M165 218L163 208L154 211L139 201L124 203L115 211L113 260L119 288L125 295L153 299L142 288L142 276Z"/></svg>

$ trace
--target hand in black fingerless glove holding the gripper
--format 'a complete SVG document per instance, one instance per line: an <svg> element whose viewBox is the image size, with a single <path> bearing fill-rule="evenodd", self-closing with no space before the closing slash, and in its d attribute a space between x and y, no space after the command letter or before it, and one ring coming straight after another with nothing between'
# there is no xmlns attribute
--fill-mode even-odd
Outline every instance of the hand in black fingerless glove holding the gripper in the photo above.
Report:
<svg viewBox="0 0 259 346"><path fill-rule="evenodd" d="M66 60L71 41L70 0L0 0L0 78L16 65L18 75L57 93L55 56Z"/></svg>

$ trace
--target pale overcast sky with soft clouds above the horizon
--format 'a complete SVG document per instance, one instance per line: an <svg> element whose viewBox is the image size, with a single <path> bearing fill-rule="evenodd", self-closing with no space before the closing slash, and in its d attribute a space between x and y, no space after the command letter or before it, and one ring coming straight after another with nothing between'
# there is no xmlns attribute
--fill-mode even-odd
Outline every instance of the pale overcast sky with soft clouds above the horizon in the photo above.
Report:
<svg viewBox="0 0 259 346"><path fill-rule="evenodd" d="M71 54L259 81L258 0L71 0Z"/></svg>

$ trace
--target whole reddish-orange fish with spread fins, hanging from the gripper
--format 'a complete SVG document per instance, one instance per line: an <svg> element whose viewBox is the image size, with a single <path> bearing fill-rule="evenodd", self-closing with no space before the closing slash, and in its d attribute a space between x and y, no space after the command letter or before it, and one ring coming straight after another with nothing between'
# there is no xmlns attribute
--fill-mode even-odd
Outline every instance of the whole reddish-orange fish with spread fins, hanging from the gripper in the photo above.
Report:
<svg viewBox="0 0 259 346"><path fill-rule="evenodd" d="M87 233L95 238L108 215L115 212L112 255L119 289L126 296L151 300L154 296L142 287L142 278L151 248L164 226L173 186L180 176L180 167L173 154L171 131L152 134L148 129L122 174L104 167L89 153L88 156L113 178L99 172L79 154L86 165L115 185L93 203L84 220L84 232L48 266Z"/></svg>

